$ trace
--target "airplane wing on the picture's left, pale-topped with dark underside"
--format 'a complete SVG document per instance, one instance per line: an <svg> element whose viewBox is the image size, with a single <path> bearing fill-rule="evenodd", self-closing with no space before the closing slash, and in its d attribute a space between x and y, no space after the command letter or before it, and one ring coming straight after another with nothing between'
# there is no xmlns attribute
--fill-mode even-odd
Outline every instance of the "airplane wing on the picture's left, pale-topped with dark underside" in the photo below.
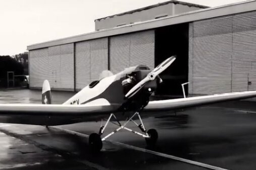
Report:
<svg viewBox="0 0 256 170"><path fill-rule="evenodd" d="M54 126L100 121L118 107L120 105L0 104L0 123Z"/></svg>

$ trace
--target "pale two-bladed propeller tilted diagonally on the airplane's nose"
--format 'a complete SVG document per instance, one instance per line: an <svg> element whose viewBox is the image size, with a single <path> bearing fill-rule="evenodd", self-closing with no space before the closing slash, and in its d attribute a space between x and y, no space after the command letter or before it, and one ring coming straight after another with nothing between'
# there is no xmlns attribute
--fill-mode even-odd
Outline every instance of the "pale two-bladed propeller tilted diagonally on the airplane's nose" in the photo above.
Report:
<svg viewBox="0 0 256 170"><path fill-rule="evenodd" d="M135 95L148 81L154 80L161 72L163 72L166 68L168 68L173 61L176 59L176 56L171 56L159 64L155 69L147 74L145 78L139 81L126 95L126 98L131 98Z"/></svg>

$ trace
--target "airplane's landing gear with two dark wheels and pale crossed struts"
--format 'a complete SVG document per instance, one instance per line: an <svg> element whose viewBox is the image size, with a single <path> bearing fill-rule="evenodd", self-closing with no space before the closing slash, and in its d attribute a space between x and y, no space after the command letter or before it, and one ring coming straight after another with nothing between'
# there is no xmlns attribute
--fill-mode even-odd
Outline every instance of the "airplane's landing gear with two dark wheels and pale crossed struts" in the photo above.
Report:
<svg viewBox="0 0 256 170"><path fill-rule="evenodd" d="M137 124L133 118L135 116L138 116L139 118L139 121L140 121L140 124ZM115 121L117 123L114 123L111 121L111 118L114 118ZM132 129L129 129L126 127L126 125L129 123L129 122L133 122L140 130L142 133L140 132L137 132L137 131L134 131ZM106 129L107 125L109 124L109 122L119 126L119 128L117 128L116 130L114 130L113 132L109 133L108 135L106 135L105 137L101 138L100 136L103 135L104 133L104 130ZM130 131L134 134L137 134L139 136L142 136L145 138L146 140L146 144L148 146L154 146L156 145L157 143L157 140L158 140L158 132L156 129L149 129L148 131L146 131L144 125L143 125L143 122L140 118L140 115L138 112L134 113L130 118L128 118L128 120L122 125L116 118L116 116L112 113L110 114L110 117L108 119L108 121L106 122L105 126L101 126L100 129L99 129L99 133L92 133L90 134L89 136L89 145L90 145L90 148L93 149L94 151L99 151L102 146L103 146L103 141L106 140L107 138L109 138L110 136L112 136L113 134L117 133L118 131L120 131L121 129L124 129L124 130L127 130L127 131Z"/></svg>

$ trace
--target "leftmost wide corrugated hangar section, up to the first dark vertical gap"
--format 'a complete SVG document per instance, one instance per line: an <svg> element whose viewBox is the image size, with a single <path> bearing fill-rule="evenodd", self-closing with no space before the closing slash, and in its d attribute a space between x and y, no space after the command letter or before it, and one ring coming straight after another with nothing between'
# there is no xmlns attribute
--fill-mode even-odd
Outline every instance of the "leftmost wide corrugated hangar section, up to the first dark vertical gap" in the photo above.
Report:
<svg viewBox="0 0 256 170"><path fill-rule="evenodd" d="M74 89L73 44L29 51L30 87L41 88L47 79L53 89Z"/></svg>

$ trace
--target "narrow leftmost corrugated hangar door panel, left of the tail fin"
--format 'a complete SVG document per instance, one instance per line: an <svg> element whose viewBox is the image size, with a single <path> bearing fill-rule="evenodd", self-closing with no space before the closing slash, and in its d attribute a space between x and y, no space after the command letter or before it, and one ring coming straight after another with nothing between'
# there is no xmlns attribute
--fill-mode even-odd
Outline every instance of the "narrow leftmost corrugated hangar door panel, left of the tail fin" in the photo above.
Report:
<svg viewBox="0 0 256 170"><path fill-rule="evenodd" d="M48 76L48 48L29 51L29 62L29 86L41 88Z"/></svg>

